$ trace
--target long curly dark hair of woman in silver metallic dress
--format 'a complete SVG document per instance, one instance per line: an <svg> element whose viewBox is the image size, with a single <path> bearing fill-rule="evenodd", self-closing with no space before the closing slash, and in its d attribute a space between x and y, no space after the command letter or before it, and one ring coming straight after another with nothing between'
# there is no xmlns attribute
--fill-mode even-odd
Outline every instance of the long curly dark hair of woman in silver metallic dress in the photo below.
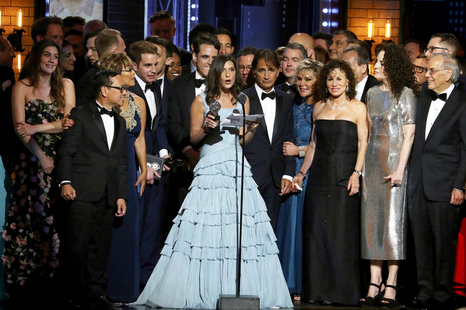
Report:
<svg viewBox="0 0 466 310"><path fill-rule="evenodd" d="M411 88L418 97L419 88L414 76L414 66L403 46L394 43L384 44L380 51L385 52L383 70L396 99L400 99L404 86Z"/></svg>

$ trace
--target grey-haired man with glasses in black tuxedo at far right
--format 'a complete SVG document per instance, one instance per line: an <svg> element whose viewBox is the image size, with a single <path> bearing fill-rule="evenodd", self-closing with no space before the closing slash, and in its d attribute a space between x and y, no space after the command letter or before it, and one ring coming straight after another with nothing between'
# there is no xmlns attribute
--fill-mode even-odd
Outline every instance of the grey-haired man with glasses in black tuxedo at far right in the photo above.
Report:
<svg viewBox="0 0 466 310"><path fill-rule="evenodd" d="M466 176L466 95L454 85L460 66L449 53L427 62L410 158L408 212L419 293L408 308L450 309L459 206Z"/></svg>

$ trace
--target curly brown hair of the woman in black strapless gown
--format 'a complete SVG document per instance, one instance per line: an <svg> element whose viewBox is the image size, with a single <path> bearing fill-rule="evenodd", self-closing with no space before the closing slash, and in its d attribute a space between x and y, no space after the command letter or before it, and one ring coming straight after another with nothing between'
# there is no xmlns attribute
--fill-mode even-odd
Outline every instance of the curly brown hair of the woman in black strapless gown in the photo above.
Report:
<svg viewBox="0 0 466 310"><path fill-rule="evenodd" d="M327 88L327 77L330 75L332 71L336 69L340 69L341 72L345 74L346 79L348 79L348 92L346 92L346 97L349 100L352 100L356 97L356 77L354 75L353 69L349 66L346 62L340 59L330 60L326 63L319 74L317 75L317 80L315 81L314 85L314 98L317 101L323 101L330 96L330 92L325 92Z"/></svg>

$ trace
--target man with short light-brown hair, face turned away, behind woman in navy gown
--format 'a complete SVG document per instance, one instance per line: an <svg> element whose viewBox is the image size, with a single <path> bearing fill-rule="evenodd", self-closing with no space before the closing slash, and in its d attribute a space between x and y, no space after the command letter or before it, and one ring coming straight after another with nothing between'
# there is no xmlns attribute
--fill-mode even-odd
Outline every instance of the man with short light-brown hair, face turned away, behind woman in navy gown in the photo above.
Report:
<svg viewBox="0 0 466 310"><path fill-rule="evenodd" d="M95 40L95 46L99 58L112 52L126 54L124 51L126 45L121 37L121 33L115 29L103 29L99 32ZM87 105L89 101L93 100L92 92L89 92L89 89L92 88L92 78L96 73L97 68L94 66L79 80L75 87L76 106Z"/></svg>

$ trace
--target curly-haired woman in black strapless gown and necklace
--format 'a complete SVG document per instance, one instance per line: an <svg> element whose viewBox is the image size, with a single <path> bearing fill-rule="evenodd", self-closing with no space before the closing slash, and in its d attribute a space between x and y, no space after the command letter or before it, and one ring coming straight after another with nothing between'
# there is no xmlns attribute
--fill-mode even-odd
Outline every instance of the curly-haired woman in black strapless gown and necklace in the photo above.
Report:
<svg viewBox="0 0 466 310"><path fill-rule="evenodd" d="M359 175L367 145L367 111L356 99L351 67L326 64L315 83L312 140L293 183L306 189L303 297L357 304L359 289ZM311 167L312 165L312 167Z"/></svg>

